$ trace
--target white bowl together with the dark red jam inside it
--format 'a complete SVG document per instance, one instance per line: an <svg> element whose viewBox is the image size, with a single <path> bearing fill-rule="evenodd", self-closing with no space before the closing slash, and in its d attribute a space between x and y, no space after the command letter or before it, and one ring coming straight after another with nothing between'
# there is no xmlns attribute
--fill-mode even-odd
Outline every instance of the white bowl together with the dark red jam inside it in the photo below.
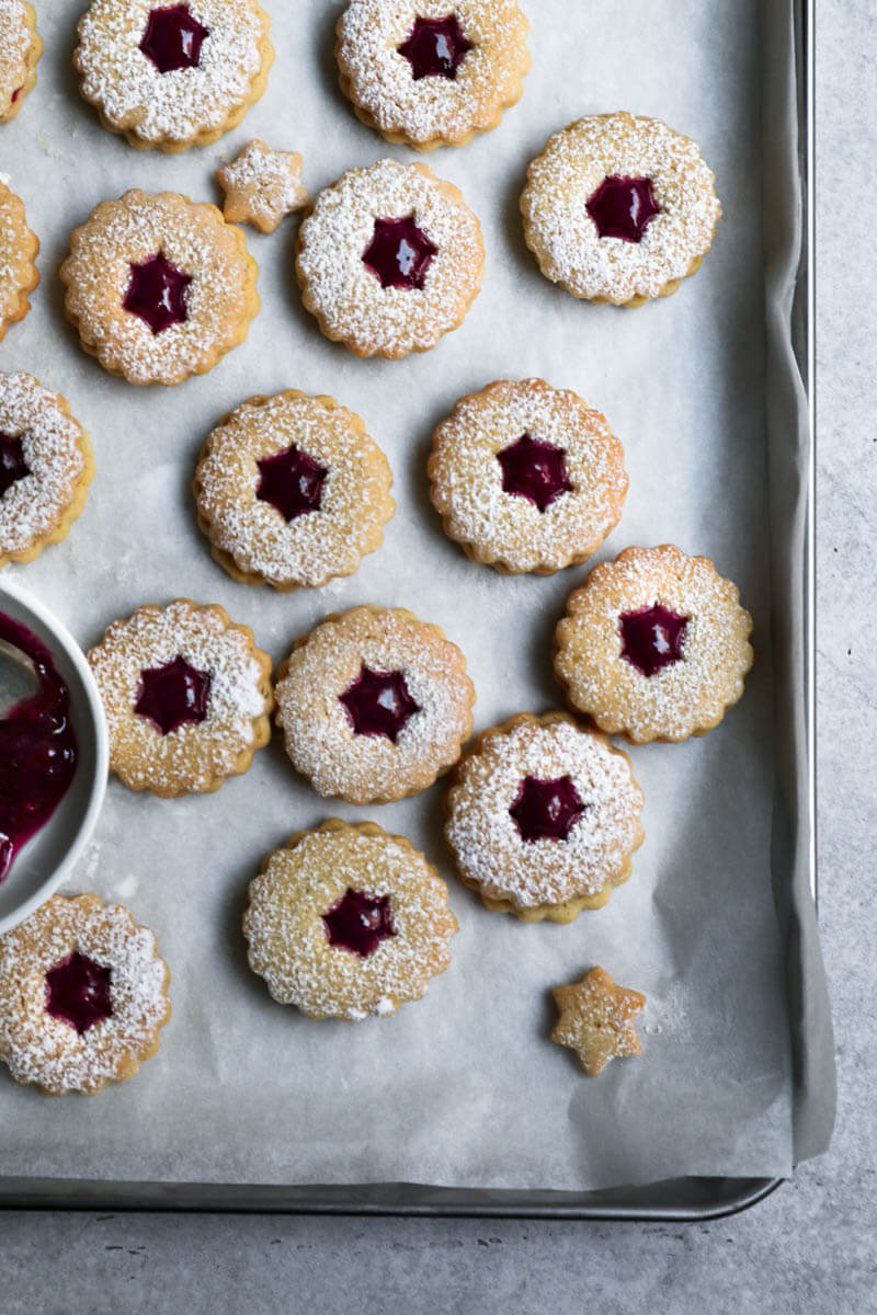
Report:
<svg viewBox="0 0 877 1315"><path fill-rule="evenodd" d="M0 583L0 934L76 864L107 767L104 711L82 648L38 598Z"/></svg>

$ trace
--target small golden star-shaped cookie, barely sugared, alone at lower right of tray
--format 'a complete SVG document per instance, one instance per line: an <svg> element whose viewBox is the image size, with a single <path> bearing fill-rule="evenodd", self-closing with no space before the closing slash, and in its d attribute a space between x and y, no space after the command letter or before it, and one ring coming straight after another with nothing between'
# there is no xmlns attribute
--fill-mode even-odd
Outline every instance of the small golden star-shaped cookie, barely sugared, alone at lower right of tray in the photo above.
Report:
<svg viewBox="0 0 877 1315"><path fill-rule="evenodd" d="M638 990L617 986L605 968L592 968L573 986L555 986L560 1018L551 1040L569 1045L588 1077L597 1077L617 1055L640 1055L634 1019L646 1003Z"/></svg>

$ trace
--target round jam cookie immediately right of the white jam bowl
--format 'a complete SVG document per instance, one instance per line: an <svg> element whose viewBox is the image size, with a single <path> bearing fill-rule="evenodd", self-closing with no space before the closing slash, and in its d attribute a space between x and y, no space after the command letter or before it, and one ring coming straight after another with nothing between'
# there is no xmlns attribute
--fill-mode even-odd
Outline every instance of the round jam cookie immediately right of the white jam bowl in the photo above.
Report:
<svg viewBox="0 0 877 1315"><path fill-rule="evenodd" d="M109 765L133 790L218 790L271 736L271 659L213 604L178 598L116 621L88 654Z"/></svg>

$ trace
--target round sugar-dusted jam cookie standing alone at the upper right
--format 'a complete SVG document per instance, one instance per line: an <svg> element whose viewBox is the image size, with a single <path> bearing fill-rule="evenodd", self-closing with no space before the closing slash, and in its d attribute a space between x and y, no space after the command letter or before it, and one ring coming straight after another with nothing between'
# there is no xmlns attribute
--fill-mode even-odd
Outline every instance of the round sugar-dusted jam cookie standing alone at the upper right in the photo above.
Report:
<svg viewBox="0 0 877 1315"><path fill-rule="evenodd" d="M697 145L626 113L580 118L550 137L527 170L521 210L546 279L623 306L676 292L722 214Z"/></svg>

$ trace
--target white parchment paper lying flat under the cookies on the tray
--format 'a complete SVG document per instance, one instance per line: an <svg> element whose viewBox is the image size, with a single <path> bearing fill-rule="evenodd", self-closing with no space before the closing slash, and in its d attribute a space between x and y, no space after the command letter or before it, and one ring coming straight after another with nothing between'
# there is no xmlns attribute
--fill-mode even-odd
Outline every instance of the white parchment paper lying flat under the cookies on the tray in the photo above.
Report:
<svg viewBox="0 0 877 1315"><path fill-rule="evenodd" d="M598 559L676 542L711 556L755 617L756 667L721 729L632 751L646 844L605 910L568 927L486 913L455 880L443 786L385 807L322 801L280 743L218 794L162 801L110 782L70 889L126 902L172 970L174 1019L135 1081L46 1102L0 1084L0 1173L225 1182L387 1182L589 1189L677 1174L772 1176L793 1162L785 928L772 896L774 747L765 444L765 304L756 0L529 0L533 70L501 128L429 163L462 187L486 245L463 327L402 362L356 360L301 309L295 221L247 230L262 313L245 346L179 388L135 389L85 356L57 266L70 229L139 185L216 199L213 170L254 135L300 150L314 193L343 168L413 159L363 128L337 91L338 4L268 3L268 92L213 147L137 153L101 130L70 67L83 0L41 9L37 89L0 135L0 168L43 243L42 285L0 347L91 430L97 479L70 539L14 579L83 646L143 602L218 601L275 659L325 613L406 605L464 650L476 726L559 706L550 640L582 569L504 579L471 564L431 512L434 425L463 393L542 375L602 409L630 494ZM530 158L582 113L630 108L694 135L726 218L680 293L638 312L575 301L526 251L518 196ZM393 467L397 513L354 577L281 596L235 584L200 535L189 481L216 421L252 393L330 392ZM327 815L409 835L448 880L460 922L451 969L391 1020L314 1023L273 1003L239 919L264 852ZM774 853L774 873L785 853ZM777 881L780 881L777 876ZM785 918L784 918L785 922ZM593 964L643 990L644 1056L589 1081L552 1045L550 988Z"/></svg>

